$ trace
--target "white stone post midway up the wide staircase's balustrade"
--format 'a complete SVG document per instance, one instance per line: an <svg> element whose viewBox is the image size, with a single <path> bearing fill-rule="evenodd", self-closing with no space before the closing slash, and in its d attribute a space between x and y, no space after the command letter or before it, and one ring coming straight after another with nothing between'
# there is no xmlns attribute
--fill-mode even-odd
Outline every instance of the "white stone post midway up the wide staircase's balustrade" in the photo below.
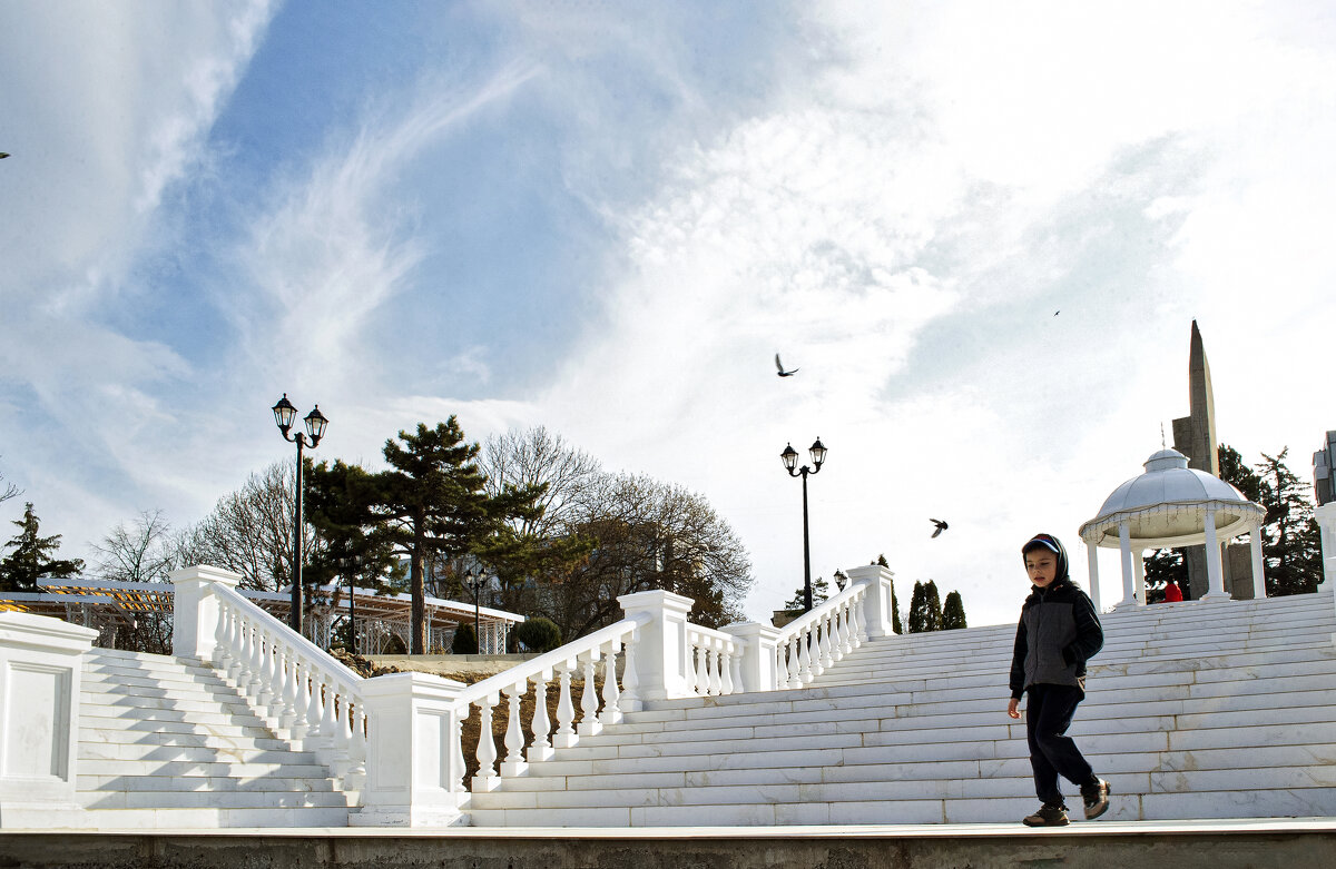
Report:
<svg viewBox="0 0 1336 869"><path fill-rule="evenodd" d="M637 591L617 598L627 618L641 621L635 649L636 691L641 701L692 697L687 655L687 615L691 598L672 591Z"/></svg>

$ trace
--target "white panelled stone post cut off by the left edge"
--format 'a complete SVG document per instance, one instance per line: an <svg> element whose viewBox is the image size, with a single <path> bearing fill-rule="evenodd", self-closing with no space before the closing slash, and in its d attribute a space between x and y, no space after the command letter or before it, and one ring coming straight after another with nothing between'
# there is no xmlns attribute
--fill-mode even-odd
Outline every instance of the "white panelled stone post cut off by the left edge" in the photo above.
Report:
<svg viewBox="0 0 1336 869"><path fill-rule="evenodd" d="M79 690L98 631L0 613L0 828L76 826Z"/></svg>

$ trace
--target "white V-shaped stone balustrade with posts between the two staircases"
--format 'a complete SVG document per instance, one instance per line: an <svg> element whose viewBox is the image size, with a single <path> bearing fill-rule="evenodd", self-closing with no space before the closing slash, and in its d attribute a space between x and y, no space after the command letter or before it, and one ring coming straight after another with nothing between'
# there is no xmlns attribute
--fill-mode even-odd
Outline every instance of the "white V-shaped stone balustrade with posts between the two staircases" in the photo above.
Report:
<svg viewBox="0 0 1336 869"><path fill-rule="evenodd" d="M619 598L620 622L476 685L422 673L362 679L238 594L236 579L214 567L172 575L174 651L218 666L271 728L315 752L345 789L357 790L354 825L461 822L469 792L524 776L529 764L596 736L647 701L798 687L868 637L891 633L890 571L864 567L783 630L692 625L689 598L641 591ZM521 710L530 695L525 728ZM504 757L493 736L498 706L506 719ZM464 729L474 714L477 772L466 790Z"/></svg>

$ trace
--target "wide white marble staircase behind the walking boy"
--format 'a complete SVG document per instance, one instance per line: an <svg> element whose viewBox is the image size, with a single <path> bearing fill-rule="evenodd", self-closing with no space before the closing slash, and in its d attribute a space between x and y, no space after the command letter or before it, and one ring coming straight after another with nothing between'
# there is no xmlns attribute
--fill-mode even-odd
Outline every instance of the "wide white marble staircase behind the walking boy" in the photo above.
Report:
<svg viewBox="0 0 1336 869"><path fill-rule="evenodd" d="M1109 818L1336 816L1331 593L1104 617L1071 733ZM811 686L660 701L468 805L476 826L1015 822L1013 626L867 642ZM1069 805L1079 818L1074 788Z"/></svg>

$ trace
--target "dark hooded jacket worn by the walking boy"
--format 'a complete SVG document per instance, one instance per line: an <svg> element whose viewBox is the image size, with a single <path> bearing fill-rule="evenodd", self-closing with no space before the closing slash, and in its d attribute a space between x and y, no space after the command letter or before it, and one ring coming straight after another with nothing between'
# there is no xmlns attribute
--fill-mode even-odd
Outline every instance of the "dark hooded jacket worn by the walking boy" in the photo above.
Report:
<svg viewBox="0 0 1336 869"><path fill-rule="evenodd" d="M1011 697L1031 685L1071 685L1085 690L1085 662L1104 647L1094 603L1067 574L1067 551L1055 537L1058 570L1047 589L1035 587L1021 607L1011 654Z"/></svg>

